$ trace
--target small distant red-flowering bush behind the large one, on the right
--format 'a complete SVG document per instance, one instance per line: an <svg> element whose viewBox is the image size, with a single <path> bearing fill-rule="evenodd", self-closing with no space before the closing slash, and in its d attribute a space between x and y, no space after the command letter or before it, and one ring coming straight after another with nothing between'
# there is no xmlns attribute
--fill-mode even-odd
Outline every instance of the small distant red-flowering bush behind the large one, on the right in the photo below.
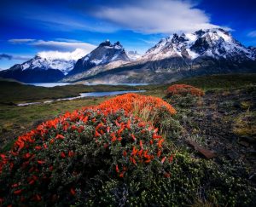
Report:
<svg viewBox="0 0 256 207"><path fill-rule="evenodd" d="M171 85L166 90L167 96L172 95L195 95L195 96L202 96L204 95L204 92L201 89L195 88L192 85L186 85L186 84L174 84Z"/></svg>

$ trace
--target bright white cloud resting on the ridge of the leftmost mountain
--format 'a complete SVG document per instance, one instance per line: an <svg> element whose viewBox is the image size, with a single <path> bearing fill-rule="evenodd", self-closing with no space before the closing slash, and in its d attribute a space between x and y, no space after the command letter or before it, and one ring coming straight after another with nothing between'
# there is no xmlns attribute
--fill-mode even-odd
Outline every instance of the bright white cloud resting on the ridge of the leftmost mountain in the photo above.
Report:
<svg viewBox="0 0 256 207"><path fill-rule="evenodd" d="M86 49L75 49L73 52L43 51L38 56L45 59L79 60L89 52Z"/></svg>

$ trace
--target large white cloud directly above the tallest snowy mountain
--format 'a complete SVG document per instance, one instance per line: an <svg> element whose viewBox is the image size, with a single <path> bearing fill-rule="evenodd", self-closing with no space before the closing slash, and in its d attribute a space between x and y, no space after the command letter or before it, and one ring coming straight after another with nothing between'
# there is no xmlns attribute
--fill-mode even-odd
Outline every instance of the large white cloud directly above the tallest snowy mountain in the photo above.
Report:
<svg viewBox="0 0 256 207"><path fill-rule="evenodd" d="M194 32L219 27L189 1L148 0L133 4L102 7L96 17L110 20L125 29L143 33Z"/></svg>

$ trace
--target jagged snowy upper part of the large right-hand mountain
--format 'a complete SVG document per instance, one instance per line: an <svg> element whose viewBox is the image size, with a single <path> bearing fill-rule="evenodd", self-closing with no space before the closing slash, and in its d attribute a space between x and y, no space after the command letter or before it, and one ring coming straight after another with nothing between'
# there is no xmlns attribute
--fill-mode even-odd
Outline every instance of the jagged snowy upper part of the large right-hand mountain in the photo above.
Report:
<svg viewBox="0 0 256 207"><path fill-rule="evenodd" d="M195 60L198 57L227 60L254 60L252 51L236 41L230 32L221 28L199 30L194 33L173 34L148 49L143 59L161 60L182 57Z"/></svg>

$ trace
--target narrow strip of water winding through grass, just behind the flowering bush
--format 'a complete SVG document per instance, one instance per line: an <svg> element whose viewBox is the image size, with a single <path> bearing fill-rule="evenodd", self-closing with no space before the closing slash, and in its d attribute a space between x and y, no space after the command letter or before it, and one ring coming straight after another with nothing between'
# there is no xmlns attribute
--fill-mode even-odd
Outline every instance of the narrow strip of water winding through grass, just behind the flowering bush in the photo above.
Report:
<svg viewBox="0 0 256 207"><path fill-rule="evenodd" d="M49 100L49 101L42 101L42 102L27 102L27 103L20 103L17 104L17 106L29 106L29 105L35 105L35 104L45 104L45 103L51 103L53 101L71 101L76 100L84 97L102 97L102 96L108 96L108 95L123 95L127 93L142 93L146 90L117 90L117 91L109 91L109 92L90 92L90 93L80 93L79 96L75 97L68 97L68 98L62 98L62 99L55 99L55 100Z"/></svg>

